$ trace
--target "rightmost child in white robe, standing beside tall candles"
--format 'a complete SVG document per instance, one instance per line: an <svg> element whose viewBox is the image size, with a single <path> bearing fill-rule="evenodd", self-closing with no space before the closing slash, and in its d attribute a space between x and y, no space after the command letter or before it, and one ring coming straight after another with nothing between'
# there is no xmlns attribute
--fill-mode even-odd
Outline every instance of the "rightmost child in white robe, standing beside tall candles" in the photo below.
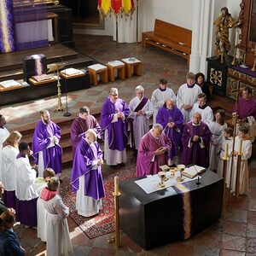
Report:
<svg viewBox="0 0 256 256"><path fill-rule="evenodd" d="M248 137L249 126L241 125L239 127L238 136L235 137L234 160L231 191L236 190L236 168L237 168L237 154L241 151L241 171L239 177L239 194L248 194L249 190L249 169L247 160L252 155L252 143ZM230 171L230 170L229 170Z"/></svg>

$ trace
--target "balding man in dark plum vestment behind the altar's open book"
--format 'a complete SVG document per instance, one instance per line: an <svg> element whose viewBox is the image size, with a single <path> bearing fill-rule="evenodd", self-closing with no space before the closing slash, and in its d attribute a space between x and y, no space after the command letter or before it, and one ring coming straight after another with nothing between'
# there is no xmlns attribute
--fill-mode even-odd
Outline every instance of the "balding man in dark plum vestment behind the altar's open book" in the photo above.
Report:
<svg viewBox="0 0 256 256"><path fill-rule="evenodd" d="M201 113L195 112L192 121L184 125L182 163L209 167L209 149L212 132L201 121Z"/></svg>

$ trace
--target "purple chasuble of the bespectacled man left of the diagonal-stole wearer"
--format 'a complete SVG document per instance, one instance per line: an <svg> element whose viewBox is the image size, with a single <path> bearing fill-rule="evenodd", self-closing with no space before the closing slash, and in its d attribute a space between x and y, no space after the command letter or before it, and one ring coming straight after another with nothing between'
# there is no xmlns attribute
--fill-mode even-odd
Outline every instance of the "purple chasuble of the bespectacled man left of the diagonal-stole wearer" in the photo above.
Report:
<svg viewBox="0 0 256 256"><path fill-rule="evenodd" d="M122 112L125 119L118 119L117 122L111 123L115 113ZM108 131L108 145L112 150L123 151L128 143L127 132L127 117L129 108L125 101L117 99L115 103L111 102L109 98L102 105L101 126L102 131Z"/></svg>

